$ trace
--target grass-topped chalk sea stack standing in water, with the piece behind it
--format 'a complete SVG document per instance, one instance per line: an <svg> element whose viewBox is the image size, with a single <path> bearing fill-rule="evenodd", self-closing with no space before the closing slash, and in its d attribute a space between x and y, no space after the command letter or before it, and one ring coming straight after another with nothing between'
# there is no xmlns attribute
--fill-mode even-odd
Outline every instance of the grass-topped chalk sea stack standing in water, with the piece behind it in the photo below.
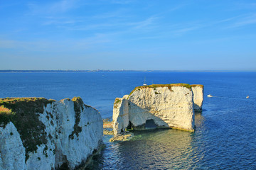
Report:
<svg viewBox="0 0 256 170"><path fill-rule="evenodd" d="M202 106L200 85L194 86L198 107ZM202 93L203 91L201 91ZM157 128L175 128L193 132L193 91L189 84L153 84L139 86L129 96L116 98L113 108L114 135L127 128L144 130L150 123Z"/></svg>

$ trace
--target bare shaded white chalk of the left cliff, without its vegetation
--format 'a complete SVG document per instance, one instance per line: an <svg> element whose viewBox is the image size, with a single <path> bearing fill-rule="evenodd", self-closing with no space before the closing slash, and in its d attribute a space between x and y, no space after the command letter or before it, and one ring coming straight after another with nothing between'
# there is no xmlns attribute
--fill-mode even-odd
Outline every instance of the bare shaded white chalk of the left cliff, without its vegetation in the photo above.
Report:
<svg viewBox="0 0 256 170"><path fill-rule="evenodd" d="M47 142L38 145L36 152L28 152L25 162L25 147L14 124L0 127L0 169L58 169L63 164L75 169L85 164L102 141L100 113L79 98L48 103L43 113L36 114L46 126Z"/></svg>

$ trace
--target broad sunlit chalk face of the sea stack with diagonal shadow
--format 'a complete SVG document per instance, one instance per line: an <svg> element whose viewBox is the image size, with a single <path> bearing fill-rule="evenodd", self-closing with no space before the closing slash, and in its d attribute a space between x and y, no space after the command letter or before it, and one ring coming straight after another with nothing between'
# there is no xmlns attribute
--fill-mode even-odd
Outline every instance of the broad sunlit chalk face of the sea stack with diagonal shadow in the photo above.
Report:
<svg viewBox="0 0 256 170"><path fill-rule="evenodd" d="M152 119L159 127L194 131L193 93L187 87L137 89L129 102L129 121L135 127Z"/></svg>

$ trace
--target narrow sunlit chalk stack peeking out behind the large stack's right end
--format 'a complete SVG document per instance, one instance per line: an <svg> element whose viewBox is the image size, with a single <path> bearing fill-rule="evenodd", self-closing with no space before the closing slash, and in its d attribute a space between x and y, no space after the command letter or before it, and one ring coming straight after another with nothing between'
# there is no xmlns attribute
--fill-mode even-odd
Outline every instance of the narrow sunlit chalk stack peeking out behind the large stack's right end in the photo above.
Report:
<svg viewBox="0 0 256 170"><path fill-rule="evenodd" d="M194 111L201 112L202 105L203 105L203 85L193 84L193 85L191 85L191 89L193 91Z"/></svg>

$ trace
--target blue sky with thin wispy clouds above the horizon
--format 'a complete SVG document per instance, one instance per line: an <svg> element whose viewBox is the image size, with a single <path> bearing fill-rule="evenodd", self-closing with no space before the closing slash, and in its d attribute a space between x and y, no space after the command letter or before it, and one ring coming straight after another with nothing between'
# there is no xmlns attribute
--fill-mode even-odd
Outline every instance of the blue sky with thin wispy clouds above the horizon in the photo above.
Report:
<svg viewBox="0 0 256 170"><path fill-rule="evenodd" d="M0 0L0 69L256 70L256 1Z"/></svg>

